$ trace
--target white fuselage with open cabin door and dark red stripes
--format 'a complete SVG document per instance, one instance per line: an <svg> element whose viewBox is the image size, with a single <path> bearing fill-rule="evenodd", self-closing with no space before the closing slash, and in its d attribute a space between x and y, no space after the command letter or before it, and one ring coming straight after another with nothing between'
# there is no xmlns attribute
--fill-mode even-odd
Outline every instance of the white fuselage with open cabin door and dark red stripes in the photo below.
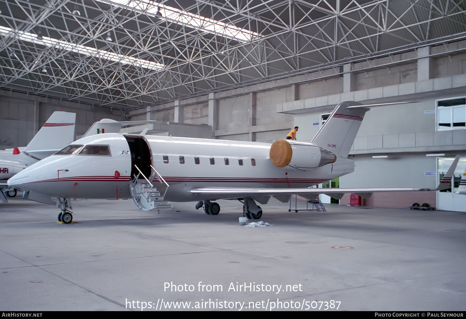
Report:
<svg viewBox="0 0 466 319"><path fill-rule="evenodd" d="M354 169L352 160L342 158L308 170L277 167L269 159L271 144L258 142L109 133L70 146L61 151L66 154L58 152L18 173L8 185L51 197L130 198L134 166L149 177L152 165L170 185L166 200L194 201L199 197L189 193L192 187L308 187Z"/></svg>

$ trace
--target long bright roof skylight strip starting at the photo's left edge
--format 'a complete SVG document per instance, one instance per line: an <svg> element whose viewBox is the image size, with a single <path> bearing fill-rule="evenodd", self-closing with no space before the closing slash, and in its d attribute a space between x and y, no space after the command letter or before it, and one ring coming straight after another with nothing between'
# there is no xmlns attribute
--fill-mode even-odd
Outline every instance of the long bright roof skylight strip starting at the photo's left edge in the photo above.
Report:
<svg viewBox="0 0 466 319"><path fill-rule="evenodd" d="M164 69L164 64L151 62L143 59L137 59L131 56L121 55L113 53L110 51L96 49L91 47L86 47L79 44L69 43L63 40L57 40L49 38L47 36L42 36L42 39L37 39L37 35L28 32L14 31L11 28L0 26L0 35L3 36L16 36L22 41L32 42L36 44L46 45L48 47L54 47L59 49L65 49L68 51L79 53L80 55L90 55L95 56L104 60L110 60L114 62L119 62L122 64L134 65L136 67L141 67L144 69L153 69L160 70ZM36 64L36 63L34 63Z"/></svg>

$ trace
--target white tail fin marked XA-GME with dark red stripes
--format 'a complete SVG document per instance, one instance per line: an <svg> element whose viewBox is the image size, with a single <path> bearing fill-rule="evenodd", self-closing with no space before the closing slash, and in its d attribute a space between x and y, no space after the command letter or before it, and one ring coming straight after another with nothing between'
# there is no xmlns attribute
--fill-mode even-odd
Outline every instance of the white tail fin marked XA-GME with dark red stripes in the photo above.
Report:
<svg viewBox="0 0 466 319"><path fill-rule="evenodd" d="M311 142L339 157L347 158L364 114L369 111L365 107L347 109L348 106L356 105L362 104L353 101L339 103Z"/></svg>

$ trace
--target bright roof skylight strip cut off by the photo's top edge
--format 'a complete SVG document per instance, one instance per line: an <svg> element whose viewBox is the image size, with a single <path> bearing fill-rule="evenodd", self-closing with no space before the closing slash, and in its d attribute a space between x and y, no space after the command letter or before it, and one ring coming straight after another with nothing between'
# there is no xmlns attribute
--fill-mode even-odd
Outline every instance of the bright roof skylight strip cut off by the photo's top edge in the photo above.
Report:
<svg viewBox="0 0 466 319"><path fill-rule="evenodd" d="M259 34L247 29L238 28L221 21L209 19L198 14L192 14L174 7L165 6L150 0L111 0L110 2L132 7L146 14L177 21L185 26L200 29L211 34L224 36L240 42L248 42Z"/></svg>

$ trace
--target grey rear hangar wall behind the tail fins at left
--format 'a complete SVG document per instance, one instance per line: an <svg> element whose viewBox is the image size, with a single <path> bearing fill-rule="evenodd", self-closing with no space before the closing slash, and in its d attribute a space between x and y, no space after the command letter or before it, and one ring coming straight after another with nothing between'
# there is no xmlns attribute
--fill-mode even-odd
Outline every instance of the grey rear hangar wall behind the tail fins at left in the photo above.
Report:
<svg viewBox="0 0 466 319"><path fill-rule="evenodd" d="M119 110L0 90L0 148L26 146L55 111L76 113L75 136L102 118L124 119Z"/></svg>

